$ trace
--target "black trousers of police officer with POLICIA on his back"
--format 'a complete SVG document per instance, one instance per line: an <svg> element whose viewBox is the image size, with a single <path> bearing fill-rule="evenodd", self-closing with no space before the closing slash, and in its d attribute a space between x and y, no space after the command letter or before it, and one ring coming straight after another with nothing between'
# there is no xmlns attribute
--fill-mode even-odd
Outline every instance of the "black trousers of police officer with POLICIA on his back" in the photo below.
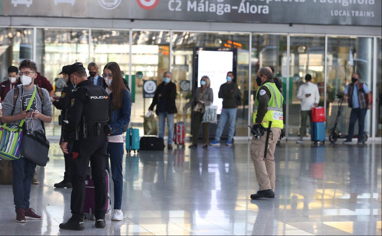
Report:
<svg viewBox="0 0 382 236"><path fill-rule="evenodd" d="M105 168L107 161L107 136L101 133L100 137L88 137L74 142L70 162L72 193L70 209L72 219L83 221L83 208L85 200L85 179L89 168L92 169L94 182L94 216L97 220L105 219L105 205L107 201L107 186Z"/></svg>

